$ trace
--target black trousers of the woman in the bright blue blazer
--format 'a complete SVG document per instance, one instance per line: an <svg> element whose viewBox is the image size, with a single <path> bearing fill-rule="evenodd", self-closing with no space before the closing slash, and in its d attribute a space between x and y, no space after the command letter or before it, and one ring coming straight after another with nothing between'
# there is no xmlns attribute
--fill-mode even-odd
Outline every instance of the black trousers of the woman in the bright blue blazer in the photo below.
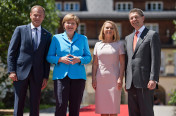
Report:
<svg viewBox="0 0 176 116"><path fill-rule="evenodd" d="M84 79L70 79L66 76L64 79L54 80L55 116L66 116L68 104L69 116L79 116L84 89Z"/></svg>

